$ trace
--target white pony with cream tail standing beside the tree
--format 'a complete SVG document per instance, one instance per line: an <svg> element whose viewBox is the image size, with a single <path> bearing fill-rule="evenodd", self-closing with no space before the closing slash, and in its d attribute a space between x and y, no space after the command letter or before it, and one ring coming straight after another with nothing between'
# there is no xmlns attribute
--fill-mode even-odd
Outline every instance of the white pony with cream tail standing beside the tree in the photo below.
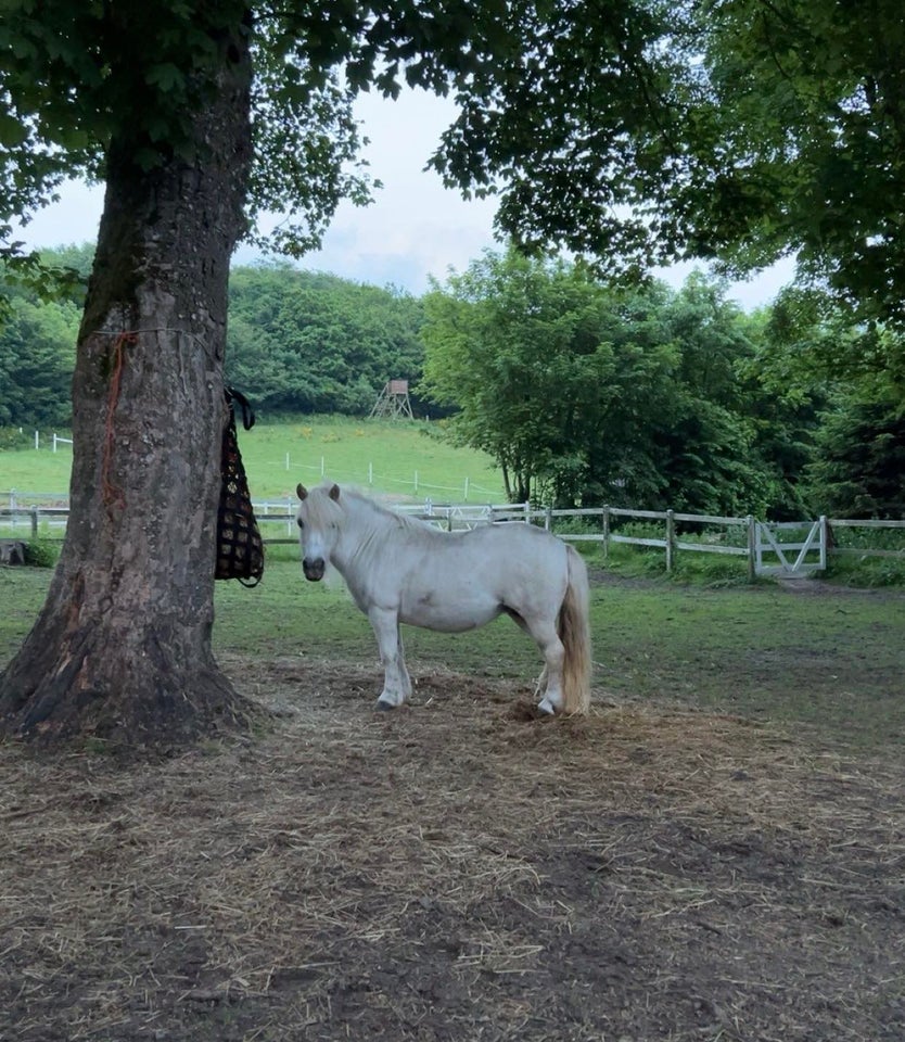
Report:
<svg viewBox="0 0 905 1042"><path fill-rule="evenodd" d="M459 633L505 612L544 656L538 708L587 712L588 579L573 547L515 522L442 532L330 482L296 493L305 577L318 582L332 563L373 627L385 671L380 709L411 694L399 623Z"/></svg>

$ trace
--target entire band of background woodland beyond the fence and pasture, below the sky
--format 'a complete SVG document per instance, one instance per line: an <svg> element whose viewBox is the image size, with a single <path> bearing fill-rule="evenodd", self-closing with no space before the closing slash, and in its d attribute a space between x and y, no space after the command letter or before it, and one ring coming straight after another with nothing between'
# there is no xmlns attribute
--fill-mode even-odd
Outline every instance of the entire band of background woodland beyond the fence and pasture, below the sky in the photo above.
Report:
<svg viewBox="0 0 905 1042"><path fill-rule="evenodd" d="M62 296L0 294L0 449L71 424L91 255L48 252ZM700 275L615 287L507 251L416 297L278 263L233 269L227 350L266 421L367 416L408 380L416 416L488 452L519 500L905 513L905 351L819 294L748 315Z"/></svg>

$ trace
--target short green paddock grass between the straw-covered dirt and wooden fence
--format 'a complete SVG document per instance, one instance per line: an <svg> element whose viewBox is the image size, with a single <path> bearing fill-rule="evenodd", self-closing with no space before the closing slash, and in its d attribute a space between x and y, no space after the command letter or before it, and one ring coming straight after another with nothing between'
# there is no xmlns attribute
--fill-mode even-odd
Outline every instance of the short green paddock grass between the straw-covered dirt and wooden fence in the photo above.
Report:
<svg viewBox="0 0 905 1042"><path fill-rule="evenodd" d="M0 569L0 664L38 611L50 572ZM805 587L806 588L806 587ZM14 610L10 610L11 606ZM245 660L240 687L275 657L380 666L374 639L341 581L306 583L295 554L271 552L254 589L218 583L215 644ZM864 750L905 739L905 596L791 592L774 584L709 589L601 573L591 624L598 702L680 704L770 722ZM531 643L500 619L468 634L406 628L412 676L442 669L510 678L539 671ZM454 683L450 679L450 683ZM299 690L299 699L305 691ZM475 706L475 712L481 707Z"/></svg>

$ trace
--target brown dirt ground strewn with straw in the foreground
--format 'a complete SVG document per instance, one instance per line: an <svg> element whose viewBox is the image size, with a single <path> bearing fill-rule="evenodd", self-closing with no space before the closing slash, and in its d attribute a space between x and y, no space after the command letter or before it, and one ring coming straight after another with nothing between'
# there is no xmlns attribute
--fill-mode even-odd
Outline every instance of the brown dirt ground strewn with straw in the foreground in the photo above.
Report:
<svg viewBox="0 0 905 1042"><path fill-rule="evenodd" d="M0 747L0 1039L905 1038L900 764L273 661L246 741Z"/></svg>

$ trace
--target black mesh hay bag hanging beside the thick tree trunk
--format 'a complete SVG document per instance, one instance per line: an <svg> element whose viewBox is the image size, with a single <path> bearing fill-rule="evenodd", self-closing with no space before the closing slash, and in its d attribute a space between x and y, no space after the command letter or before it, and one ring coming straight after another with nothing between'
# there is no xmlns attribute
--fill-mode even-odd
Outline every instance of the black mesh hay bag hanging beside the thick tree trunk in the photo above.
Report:
<svg viewBox="0 0 905 1042"><path fill-rule="evenodd" d="M227 387L229 416L224 428L220 456L220 505L217 510L216 579L238 579L243 586L256 586L264 574L264 543L260 538L239 439L235 434L234 402L242 407L242 424L246 431L255 415L244 395Z"/></svg>

